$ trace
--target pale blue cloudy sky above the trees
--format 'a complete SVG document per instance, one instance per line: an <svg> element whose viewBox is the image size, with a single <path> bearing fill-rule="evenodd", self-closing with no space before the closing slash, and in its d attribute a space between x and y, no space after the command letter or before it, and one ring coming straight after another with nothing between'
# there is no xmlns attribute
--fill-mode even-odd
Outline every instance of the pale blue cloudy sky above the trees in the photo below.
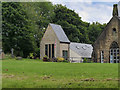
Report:
<svg viewBox="0 0 120 90"><path fill-rule="evenodd" d="M113 4L119 0L49 0L75 10L86 22L108 23L112 18ZM114 1L114 2L113 2Z"/></svg>

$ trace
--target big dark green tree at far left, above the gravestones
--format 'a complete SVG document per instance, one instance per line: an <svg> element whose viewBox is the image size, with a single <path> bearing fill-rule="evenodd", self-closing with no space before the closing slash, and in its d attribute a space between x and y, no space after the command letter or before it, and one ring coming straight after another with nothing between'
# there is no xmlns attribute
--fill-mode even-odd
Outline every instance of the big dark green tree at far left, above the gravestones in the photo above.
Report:
<svg viewBox="0 0 120 90"><path fill-rule="evenodd" d="M34 51L35 42L31 21L19 2L2 3L2 35L3 50L10 52L14 49L16 56L27 57Z"/></svg>

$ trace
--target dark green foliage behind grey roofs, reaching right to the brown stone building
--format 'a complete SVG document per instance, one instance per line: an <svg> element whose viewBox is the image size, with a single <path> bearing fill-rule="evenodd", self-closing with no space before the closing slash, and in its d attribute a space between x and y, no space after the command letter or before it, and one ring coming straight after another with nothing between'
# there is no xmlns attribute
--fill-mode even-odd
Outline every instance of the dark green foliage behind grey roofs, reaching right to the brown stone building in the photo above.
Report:
<svg viewBox="0 0 120 90"><path fill-rule="evenodd" d="M61 4L55 5L54 12L53 22L62 26L71 42L93 44L106 25L84 22L74 10Z"/></svg>

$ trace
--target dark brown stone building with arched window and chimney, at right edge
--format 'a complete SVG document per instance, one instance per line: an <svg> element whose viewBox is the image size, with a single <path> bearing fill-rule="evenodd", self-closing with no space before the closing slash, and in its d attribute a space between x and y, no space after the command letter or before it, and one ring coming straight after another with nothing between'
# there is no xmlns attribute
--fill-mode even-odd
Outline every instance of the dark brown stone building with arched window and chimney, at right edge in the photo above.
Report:
<svg viewBox="0 0 120 90"><path fill-rule="evenodd" d="M113 17L93 44L95 62L120 62L120 6L115 4L113 7Z"/></svg>

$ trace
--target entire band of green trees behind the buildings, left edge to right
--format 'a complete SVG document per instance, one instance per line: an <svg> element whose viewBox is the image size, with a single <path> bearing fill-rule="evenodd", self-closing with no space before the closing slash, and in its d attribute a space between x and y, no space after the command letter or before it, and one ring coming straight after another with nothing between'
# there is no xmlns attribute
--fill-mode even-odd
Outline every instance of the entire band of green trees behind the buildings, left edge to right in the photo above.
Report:
<svg viewBox="0 0 120 90"><path fill-rule="evenodd" d="M3 51L14 49L16 56L40 55L40 41L49 23L62 26L71 42L91 43L100 35L106 24L92 24L61 4L51 2L3 2Z"/></svg>

